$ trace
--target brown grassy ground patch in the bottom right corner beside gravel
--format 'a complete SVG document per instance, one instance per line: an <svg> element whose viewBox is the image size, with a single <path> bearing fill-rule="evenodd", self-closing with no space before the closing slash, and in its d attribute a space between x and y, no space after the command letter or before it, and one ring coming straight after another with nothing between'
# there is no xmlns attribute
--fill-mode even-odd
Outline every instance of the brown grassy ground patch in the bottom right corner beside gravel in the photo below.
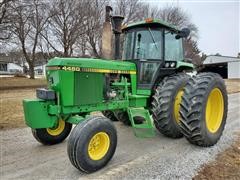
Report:
<svg viewBox="0 0 240 180"><path fill-rule="evenodd" d="M230 148L220 153L215 161L203 166L193 179L240 179L240 135Z"/></svg>

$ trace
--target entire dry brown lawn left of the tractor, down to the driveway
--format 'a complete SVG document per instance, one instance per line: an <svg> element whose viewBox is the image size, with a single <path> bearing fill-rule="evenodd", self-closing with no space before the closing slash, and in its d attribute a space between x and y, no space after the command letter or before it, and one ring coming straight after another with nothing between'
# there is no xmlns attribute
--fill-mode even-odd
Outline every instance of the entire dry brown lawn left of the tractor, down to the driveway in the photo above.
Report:
<svg viewBox="0 0 240 180"><path fill-rule="evenodd" d="M0 129L25 127L22 100L34 98L33 88L44 86L43 78L0 77Z"/></svg>

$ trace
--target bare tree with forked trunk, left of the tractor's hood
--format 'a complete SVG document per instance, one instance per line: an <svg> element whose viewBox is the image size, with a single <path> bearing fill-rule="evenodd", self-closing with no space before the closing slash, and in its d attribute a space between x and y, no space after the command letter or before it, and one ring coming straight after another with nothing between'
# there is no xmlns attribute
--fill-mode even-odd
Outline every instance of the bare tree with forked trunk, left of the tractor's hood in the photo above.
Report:
<svg viewBox="0 0 240 180"><path fill-rule="evenodd" d="M21 46L23 55L29 65L29 75L34 79L34 63L40 33L45 28L48 16L45 16L47 5L41 0L15 1L12 8L12 33Z"/></svg>

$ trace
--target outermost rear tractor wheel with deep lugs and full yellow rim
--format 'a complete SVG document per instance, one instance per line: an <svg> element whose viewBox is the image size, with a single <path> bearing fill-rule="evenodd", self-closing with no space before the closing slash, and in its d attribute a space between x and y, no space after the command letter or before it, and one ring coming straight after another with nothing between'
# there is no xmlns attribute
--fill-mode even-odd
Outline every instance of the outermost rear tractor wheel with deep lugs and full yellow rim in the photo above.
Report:
<svg viewBox="0 0 240 180"><path fill-rule="evenodd" d="M216 144L225 127L228 97L224 80L215 73L200 73L184 89L180 127L187 140L208 147Z"/></svg>

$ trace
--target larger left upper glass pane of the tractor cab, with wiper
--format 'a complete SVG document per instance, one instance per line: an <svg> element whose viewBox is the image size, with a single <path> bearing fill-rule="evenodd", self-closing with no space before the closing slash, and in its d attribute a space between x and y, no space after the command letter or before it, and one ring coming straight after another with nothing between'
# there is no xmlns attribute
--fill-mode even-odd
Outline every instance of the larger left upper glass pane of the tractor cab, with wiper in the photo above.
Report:
<svg viewBox="0 0 240 180"><path fill-rule="evenodd" d="M151 28L128 32L123 59L162 59L162 32Z"/></svg>

